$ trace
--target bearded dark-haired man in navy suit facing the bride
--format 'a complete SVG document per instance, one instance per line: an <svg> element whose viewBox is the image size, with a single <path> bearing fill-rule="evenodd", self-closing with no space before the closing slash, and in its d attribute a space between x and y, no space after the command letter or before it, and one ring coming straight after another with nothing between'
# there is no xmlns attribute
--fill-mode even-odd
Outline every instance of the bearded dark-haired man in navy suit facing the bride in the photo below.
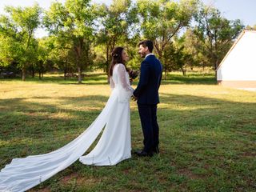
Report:
<svg viewBox="0 0 256 192"><path fill-rule="evenodd" d="M154 153L159 153L157 105L159 103L158 89L162 78L162 64L152 54L153 42L150 40L142 41L138 46L138 54L145 59L141 63L141 74L133 98L138 103L144 148L136 151L135 154L138 154L138 156L152 156Z"/></svg>

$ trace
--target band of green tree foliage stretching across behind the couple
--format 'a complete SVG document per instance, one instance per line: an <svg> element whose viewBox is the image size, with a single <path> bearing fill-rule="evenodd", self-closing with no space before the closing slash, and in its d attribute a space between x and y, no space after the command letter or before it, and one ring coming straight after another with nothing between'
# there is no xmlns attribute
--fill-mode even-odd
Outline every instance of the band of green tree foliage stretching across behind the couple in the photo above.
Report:
<svg viewBox="0 0 256 192"><path fill-rule="evenodd" d="M192 22L193 21L193 22ZM49 36L34 38L34 30L45 27ZM138 42L154 42L165 77L169 71L218 64L244 26L199 0L114 0L110 6L90 0L52 2L49 10L6 7L0 17L0 67L13 63L34 76L50 70L66 73L107 71L115 46L130 55L127 65L138 69ZM247 26L252 30L254 26Z"/></svg>

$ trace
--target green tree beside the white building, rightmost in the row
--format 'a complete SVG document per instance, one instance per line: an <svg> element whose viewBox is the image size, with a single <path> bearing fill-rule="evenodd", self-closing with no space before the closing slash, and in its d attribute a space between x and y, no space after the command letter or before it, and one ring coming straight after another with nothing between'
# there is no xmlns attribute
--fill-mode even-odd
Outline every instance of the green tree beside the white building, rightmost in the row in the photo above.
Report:
<svg viewBox="0 0 256 192"><path fill-rule="evenodd" d="M205 47L203 54L216 74L219 63L244 26L239 19L230 21L223 18L218 9L204 5L198 10L195 20L198 24L194 27L194 34L202 42L202 47Z"/></svg>

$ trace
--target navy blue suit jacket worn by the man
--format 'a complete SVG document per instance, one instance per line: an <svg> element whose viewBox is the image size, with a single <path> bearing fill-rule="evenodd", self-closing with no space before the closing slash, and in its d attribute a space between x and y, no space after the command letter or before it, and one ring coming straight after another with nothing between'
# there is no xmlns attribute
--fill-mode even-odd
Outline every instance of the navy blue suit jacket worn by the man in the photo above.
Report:
<svg viewBox="0 0 256 192"><path fill-rule="evenodd" d="M141 63L141 74L134 96L138 104L156 105L159 103L158 89L162 79L162 64L154 56L148 55Z"/></svg>

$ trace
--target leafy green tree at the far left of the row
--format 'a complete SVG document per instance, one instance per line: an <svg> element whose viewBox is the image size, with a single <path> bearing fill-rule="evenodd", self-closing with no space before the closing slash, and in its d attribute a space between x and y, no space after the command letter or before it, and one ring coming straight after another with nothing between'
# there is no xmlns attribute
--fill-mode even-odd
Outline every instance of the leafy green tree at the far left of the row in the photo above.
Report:
<svg viewBox="0 0 256 192"><path fill-rule="evenodd" d="M0 34L6 37L6 58L18 62L22 69L22 80L26 77L31 51L34 50L34 30L40 25L41 9L38 4L31 7L6 6L7 15L0 17Z"/></svg>

